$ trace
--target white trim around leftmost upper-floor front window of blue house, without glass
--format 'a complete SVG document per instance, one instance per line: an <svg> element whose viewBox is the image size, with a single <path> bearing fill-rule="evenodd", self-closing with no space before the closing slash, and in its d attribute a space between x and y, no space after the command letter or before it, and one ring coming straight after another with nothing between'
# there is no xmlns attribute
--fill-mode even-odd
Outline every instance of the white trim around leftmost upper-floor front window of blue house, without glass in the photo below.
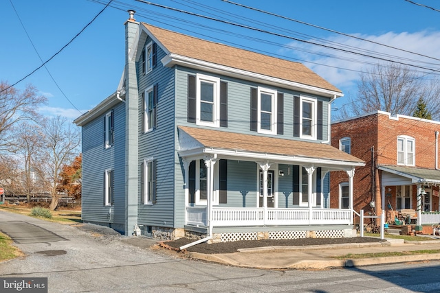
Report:
<svg viewBox="0 0 440 293"><path fill-rule="evenodd" d="M211 82L214 84L214 99L212 106L212 122L201 120L201 82ZM196 124L202 126L220 127L220 78L197 73L197 92L196 92Z"/></svg>

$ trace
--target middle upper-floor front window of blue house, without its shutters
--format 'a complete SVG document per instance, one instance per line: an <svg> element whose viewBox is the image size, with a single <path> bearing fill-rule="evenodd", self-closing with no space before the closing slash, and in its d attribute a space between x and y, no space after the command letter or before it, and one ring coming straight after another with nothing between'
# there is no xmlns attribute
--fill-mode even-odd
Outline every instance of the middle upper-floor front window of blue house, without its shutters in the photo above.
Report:
<svg viewBox="0 0 440 293"><path fill-rule="evenodd" d="M258 131L276 134L276 91L258 89Z"/></svg>

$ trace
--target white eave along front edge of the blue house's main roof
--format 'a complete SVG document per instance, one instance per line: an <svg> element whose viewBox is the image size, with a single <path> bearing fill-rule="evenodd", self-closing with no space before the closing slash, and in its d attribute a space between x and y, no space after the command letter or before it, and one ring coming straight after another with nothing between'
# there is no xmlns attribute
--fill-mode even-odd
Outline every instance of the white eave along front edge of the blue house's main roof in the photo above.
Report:
<svg viewBox="0 0 440 293"><path fill-rule="evenodd" d="M289 80L283 80L281 78L274 78L273 76L263 75L260 73L254 73L250 71L245 71L242 69L236 69L233 67L228 67L225 65L219 65L212 62L207 62L203 60L198 60L195 58L190 58L186 56L181 56L178 54L170 53L166 55L161 60L162 64L166 67L173 67L174 65L182 65L185 67L190 67L193 69L201 69L204 71L210 71L213 73L219 73L231 76L233 78L240 78L242 80L249 80L252 82L261 82L264 80L267 84L272 84L274 86L283 86L294 91L303 91L306 93L313 93L318 95L323 95L326 97L343 97L344 94L339 91L331 91L329 89L322 89L316 86L310 86L307 84L301 84L299 82L292 82Z"/></svg>

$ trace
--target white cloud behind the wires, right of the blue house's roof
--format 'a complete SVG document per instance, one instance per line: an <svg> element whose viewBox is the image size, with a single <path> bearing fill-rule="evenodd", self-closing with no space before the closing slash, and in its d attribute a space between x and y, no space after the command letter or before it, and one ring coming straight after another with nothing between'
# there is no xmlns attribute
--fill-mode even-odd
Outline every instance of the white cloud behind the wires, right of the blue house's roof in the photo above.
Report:
<svg viewBox="0 0 440 293"><path fill-rule="evenodd" d="M440 47L440 32L401 32L399 34L395 32L388 32L378 36L362 34L357 34L355 36L391 47L404 49L406 51L417 52L418 54L440 58L440 51L438 50ZM399 62L421 67L440 69L439 60L417 56L415 54L384 47L375 43L369 43L356 38L338 35L327 38L326 40L340 44L338 47L341 47L342 44L342 49L356 51L360 54L377 56L377 53L380 53L380 57L386 60L397 60ZM335 43L328 43L326 45L337 47ZM384 60L367 58L358 54L348 54L342 51L336 51L315 45L298 45L298 42L289 43L289 46L292 46L292 50L289 54L293 54L297 58L300 58L300 60L303 60L302 62L307 67L311 68L313 71L322 76L322 78L325 78L325 80L331 82L331 84L338 86L343 91L347 91L347 88L350 89L355 86L360 76L360 71L370 67L371 65L375 65L378 62L386 62ZM284 54L287 54L285 49L283 49L283 51ZM338 58L335 58L335 56ZM412 68L423 71L423 69L417 69L415 67ZM428 76L430 76L430 78L440 79L438 75Z"/></svg>

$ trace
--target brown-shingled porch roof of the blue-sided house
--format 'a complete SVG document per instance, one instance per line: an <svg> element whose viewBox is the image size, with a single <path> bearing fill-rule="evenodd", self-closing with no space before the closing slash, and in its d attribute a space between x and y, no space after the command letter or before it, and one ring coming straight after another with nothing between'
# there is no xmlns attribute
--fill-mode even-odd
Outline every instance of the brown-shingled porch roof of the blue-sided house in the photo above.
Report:
<svg viewBox="0 0 440 293"><path fill-rule="evenodd" d="M342 166L342 169L349 169L365 165L361 159L326 143L311 143L188 126L178 126L178 128L179 154L184 157L218 154L243 161L308 163L327 165L329 168L336 167L337 169Z"/></svg>

